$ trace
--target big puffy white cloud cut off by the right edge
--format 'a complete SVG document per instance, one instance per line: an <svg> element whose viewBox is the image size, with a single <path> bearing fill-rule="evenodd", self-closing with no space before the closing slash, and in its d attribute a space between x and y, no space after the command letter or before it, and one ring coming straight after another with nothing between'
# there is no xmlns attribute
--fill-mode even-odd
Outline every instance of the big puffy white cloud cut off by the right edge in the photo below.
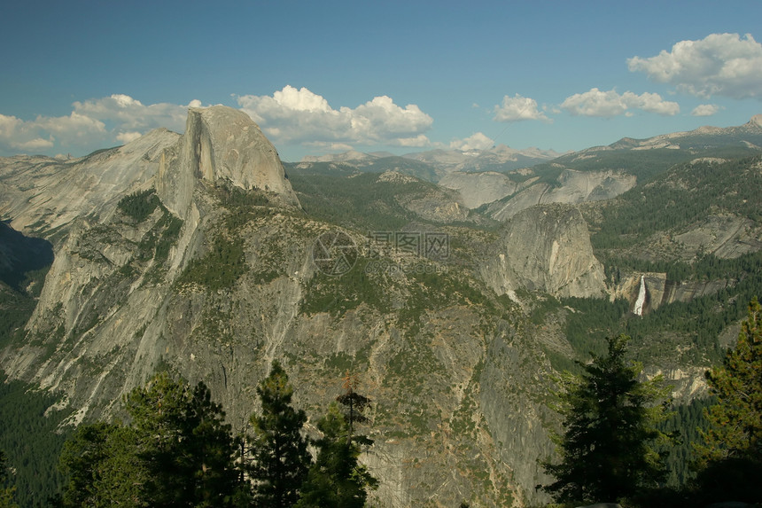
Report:
<svg viewBox="0 0 762 508"><path fill-rule="evenodd" d="M698 97L762 98L762 44L750 34L680 41L655 57L627 59L627 66Z"/></svg>

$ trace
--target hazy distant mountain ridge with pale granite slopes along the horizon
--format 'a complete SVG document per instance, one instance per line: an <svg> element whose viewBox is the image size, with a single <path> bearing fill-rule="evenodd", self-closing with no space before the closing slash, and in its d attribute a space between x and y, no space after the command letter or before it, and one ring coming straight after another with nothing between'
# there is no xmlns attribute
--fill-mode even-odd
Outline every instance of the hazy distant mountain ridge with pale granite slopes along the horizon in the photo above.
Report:
<svg viewBox="0 0 762 508"><path fill-rule="evenodd" d="M516 150L506 145L402 156L349 151L305 157L295 167L340 164L359 171L398 171L458 191L464 207L489 206L488 215L504 221L537 204L611 199L673 164L702 155L721 158L760 151L762 114L757 114L741 126L704 126L645 139L623 137L579 152Z"/></svg>

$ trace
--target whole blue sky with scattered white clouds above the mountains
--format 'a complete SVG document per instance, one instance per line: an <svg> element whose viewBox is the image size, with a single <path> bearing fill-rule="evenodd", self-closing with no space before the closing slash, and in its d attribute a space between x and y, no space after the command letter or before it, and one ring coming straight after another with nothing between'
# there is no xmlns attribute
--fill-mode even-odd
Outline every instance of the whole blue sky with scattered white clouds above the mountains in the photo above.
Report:
<svg viewBox="0 0 762 508"><path fill-rule="evenodd" d="M121 145L224 104L284 160L558 152L762 113L762 2L9 2L0 155Z"/></svg>

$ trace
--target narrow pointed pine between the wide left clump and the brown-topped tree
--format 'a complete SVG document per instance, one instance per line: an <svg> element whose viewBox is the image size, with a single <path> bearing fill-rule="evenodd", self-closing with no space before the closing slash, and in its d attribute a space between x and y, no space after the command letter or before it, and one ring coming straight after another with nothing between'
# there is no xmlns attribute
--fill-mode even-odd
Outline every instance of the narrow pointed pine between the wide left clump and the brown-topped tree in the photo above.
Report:
<svg viewBox="0 0 762 508"><path fill-rule="evenodd" d="M260 382L257 395L262 411L252 415L250 438L254 501L264 508L290 507L299 499L299 488L312 461L307 438L301 435L307 416L292 408L293 387L278 361Z"/></svg>

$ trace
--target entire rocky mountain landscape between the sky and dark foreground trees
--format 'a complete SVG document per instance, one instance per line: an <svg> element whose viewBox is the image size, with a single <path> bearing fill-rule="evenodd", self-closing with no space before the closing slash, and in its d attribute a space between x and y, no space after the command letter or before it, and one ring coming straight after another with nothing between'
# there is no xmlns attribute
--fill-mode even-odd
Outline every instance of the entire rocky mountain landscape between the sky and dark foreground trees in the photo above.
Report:
<svg viewBox="0 0 762 508"><path fill-rule="evenodd" d="M375 504L544 503L554 379L605 336L632 335L678 403L706 395L762 287L760 146L755 115L564 154L283 163L213 106L183 134L0 158L0 368L56 398L61 432L119 418L160 369L204 380L236 432L274 360L311 415L352 371Z"/></svg>

